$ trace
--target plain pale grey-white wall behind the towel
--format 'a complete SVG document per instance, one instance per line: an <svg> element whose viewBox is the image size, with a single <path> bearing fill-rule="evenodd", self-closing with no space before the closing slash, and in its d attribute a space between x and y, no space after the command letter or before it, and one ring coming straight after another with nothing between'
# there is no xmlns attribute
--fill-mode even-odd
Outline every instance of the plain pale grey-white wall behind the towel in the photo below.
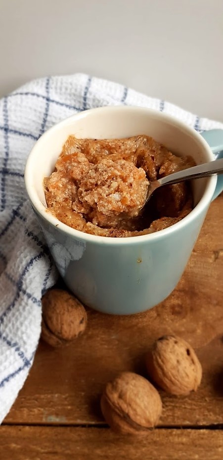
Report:
<svg viewBox="0 0 223 460"><path fill-rule="evenodd" d="M223 0L0 0L0 96L75 72L223 122Z"/></svg>

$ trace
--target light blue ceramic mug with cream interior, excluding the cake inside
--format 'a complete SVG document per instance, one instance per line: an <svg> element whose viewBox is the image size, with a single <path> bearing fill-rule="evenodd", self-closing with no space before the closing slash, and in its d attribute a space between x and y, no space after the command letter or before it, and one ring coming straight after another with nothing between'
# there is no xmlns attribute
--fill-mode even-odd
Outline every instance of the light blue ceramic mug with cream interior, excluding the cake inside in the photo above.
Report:
<svg viewBox="0 0 223 460"><path fill-rule="evenodd" d="M27 192L55 264L70 290L84 304L104 313L129 315L152 308L173 291L182 276L209 205L223 190L223 177L218 183L216 176L193 181L194 209L168 229L129 238L90 235L71 229L46 209L43 179L53 171L71 134L77 138L145 134L180 156L193 156L199 164L223 156L223 131L200 135L161 112L102 107L55 125L29 155Z"/></svg>

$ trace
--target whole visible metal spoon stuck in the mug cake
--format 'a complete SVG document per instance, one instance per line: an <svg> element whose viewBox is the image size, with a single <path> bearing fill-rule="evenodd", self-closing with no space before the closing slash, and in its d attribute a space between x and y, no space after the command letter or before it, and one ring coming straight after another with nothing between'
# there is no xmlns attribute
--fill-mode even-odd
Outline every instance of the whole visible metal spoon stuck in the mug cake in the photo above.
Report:
<svg viewBox="0 0 223 460"><path fill-rule="evenodd" d="M212 176L213 174L223 173L223 158L220 160L210 161L209 163L203 163L202 165L192 166L192 168L183 169L178 173L169 174L157 181L150 182L146 193L145 202L141 209L144 208L145 204L148 203L153 192L163 185L178 184L179 182L186 181L187 179L200 179L202 177Z"/></svg>

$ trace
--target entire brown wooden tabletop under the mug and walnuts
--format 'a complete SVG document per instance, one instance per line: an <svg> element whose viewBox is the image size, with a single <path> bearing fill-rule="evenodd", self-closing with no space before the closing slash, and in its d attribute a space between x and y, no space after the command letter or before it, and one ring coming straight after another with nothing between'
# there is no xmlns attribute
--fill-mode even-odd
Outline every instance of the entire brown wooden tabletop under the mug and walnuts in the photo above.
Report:
<svg viewBox="0 0 223 460"><path fill-rule="evenodd" d="M162 308L171 308L172 323L162 322ZM0 427L0 459L222 460L223 195L210 207L182 280L158 310L132 317L88 315L88 330L74 345L55 350L40 342ZM102 388L120 370L145 375L144 353L165 327L199 345L202 384L183 398L161 392L159 426L143 440L117 436L100 413Z"/></svg>

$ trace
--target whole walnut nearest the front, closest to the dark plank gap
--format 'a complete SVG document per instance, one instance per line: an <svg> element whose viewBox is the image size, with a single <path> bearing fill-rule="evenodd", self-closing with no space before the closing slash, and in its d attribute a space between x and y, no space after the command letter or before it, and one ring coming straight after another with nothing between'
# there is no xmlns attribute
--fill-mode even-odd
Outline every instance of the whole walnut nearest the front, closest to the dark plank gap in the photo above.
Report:
<svg viewBox="0 0 223 460"><path fill-rule="evenodd" d="M157 424L162 402L158 391L144 377L121 372L107 383L101 397L101 411L114 431L141 435Z"/></svg>

